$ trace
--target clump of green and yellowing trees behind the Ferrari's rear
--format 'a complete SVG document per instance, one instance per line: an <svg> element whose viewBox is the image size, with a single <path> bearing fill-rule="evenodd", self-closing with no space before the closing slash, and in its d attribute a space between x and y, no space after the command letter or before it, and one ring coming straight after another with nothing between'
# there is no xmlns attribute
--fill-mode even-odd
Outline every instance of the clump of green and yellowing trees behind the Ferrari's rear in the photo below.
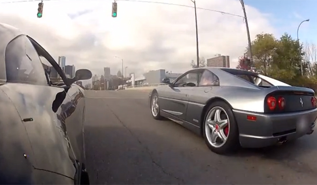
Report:
<svg viewBox="0 0 317 185"><path fill-rule="evenodd" d="M314 50L314 48L306 48L306 50ZM309 56L303 51L303 44L293 39L289 34L284 33L279 39L276 39L272 34L258 34L252 42L252 51L254 64L258 70L263 71L264 75L294 86L317 88L316 78L305 75L308 74L307 71L310 68L317 69L317 65L311 65L311 67L308 65L309 62L306 61L308 61ZM304 62L302 62L303 58ZM304 76L301 75L301 64Z"/></svg>

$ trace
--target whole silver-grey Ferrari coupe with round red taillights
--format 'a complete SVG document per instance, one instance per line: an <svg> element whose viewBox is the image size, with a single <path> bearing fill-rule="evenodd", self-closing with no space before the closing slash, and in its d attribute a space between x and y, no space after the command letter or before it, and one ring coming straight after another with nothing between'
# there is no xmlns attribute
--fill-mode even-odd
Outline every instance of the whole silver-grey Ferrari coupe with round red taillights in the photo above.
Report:
<svg viewBox="0 0 317 185"><path fill-rule="evenodd" d="M312 89L233 68L189 70L150 93L154 119L168 118L204 137L211 151L260 148L312 134Z"/></svg>

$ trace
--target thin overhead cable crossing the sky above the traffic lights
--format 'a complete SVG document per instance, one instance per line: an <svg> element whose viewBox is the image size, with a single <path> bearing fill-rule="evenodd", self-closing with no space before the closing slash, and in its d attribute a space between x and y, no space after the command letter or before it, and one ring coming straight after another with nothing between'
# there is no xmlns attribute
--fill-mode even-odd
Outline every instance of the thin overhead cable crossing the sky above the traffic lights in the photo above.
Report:
<svg viewBox="0 0 317 185"><path fill-rule="evenodd" d="M41 0L18 0L18 1L6 1L6 2L2 1L2 2L0 2L0 4L17 3L17 2L35 2L35 1L41 1ZM44 0L44 1L60 1L60 0ZM92 0L89 0L89 1L92 1ZM175 3L168 3L168 2L148 1L148 0L116 0L116 1L147 2L147 3L156 3L156 4L165 4L165 5L174 5L174 6L194 8L194 6L189 6L189 5L185 5L185 4L175 4ZM218 10L214 10L214 9L201 8L201 7L196 7L196 8L201 9L201 10L207 10L207 11L212 11L212 12L217 12L217 13L221 13L221 14L226 14L226 15L244 18L244 16L242 16L242 15L237 15L237 14L228 13L228 12L224 12L224 11L218 11Z"/></svg>

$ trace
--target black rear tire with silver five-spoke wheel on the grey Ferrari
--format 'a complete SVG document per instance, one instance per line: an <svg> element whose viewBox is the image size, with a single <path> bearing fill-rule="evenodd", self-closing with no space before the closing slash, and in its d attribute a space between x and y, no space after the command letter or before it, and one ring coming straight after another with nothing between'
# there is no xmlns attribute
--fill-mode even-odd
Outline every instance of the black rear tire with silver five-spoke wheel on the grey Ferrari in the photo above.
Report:
<svg viewBox="0 0 317 185"><path fill-rule="evenodd" d="M214 120L215 114L219 115L220 122L219 119ZM224 126L224 120L227 120L227 126ZM213 123L214 126L211 126ZM211 103L206 111L202 127L205 142L212 152L225 155L235 152L240 147L238 125L230 106L225 102Z"/></svg>

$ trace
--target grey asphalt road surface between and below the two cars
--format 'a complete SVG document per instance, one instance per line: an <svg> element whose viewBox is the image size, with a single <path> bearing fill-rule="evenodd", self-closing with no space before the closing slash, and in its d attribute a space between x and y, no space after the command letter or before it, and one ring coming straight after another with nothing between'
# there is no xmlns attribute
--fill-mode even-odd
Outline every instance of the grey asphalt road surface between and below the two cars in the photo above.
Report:
<svg viewBox="0 0 317 185"><path fill-rule="evenodd" d="M154 120L148 92L85 95L91 184L317 184L317 133L283 146L220 156L181 125Z"/></svg>

